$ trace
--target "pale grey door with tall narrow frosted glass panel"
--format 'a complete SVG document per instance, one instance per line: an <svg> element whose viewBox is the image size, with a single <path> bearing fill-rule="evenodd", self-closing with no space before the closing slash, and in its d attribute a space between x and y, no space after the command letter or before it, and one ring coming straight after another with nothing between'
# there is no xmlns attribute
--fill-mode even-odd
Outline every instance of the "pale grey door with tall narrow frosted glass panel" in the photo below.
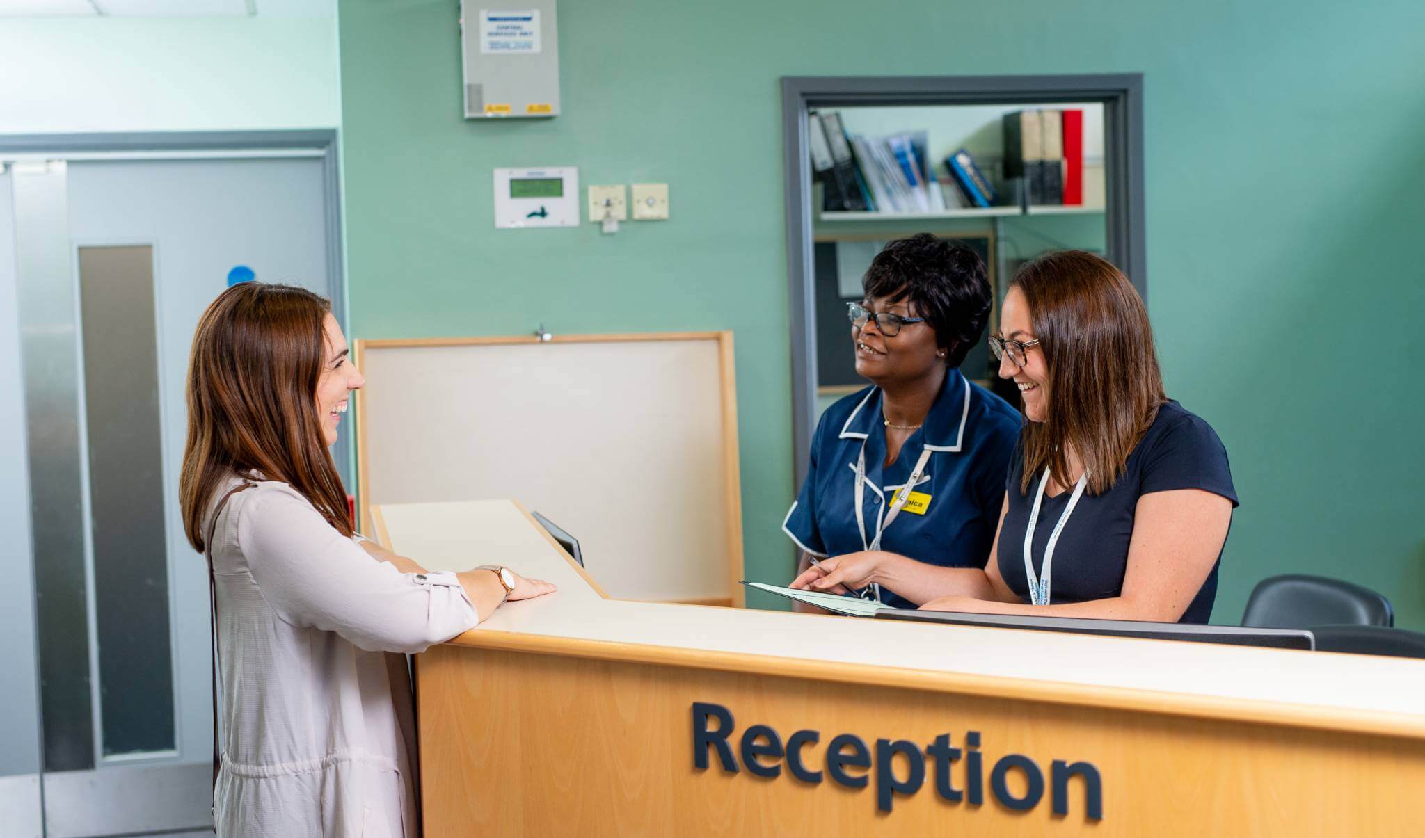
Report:
<svg viewBox="0 0 1425 838"><path fill-rule="evenodd" d="M188 349L229 276L331 296L329 174L291 157L16 177L44 829L202 828L208 581L177 492Z"/></svg>

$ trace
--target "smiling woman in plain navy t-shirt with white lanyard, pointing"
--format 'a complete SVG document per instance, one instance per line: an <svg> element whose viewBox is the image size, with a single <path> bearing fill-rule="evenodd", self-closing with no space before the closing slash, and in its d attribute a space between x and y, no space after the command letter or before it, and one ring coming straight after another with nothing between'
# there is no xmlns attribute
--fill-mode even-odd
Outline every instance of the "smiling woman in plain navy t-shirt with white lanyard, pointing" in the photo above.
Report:
<svg viewBox="0 0 1425 838"><path fill-rule="evenodd" d="M1206 623L1237 495L1217 433L1163 393L1143 299L1077 251L1020 268L990 348L1025 425L985 570L864 553L795 587L896 586L922 607Z"/></svg>

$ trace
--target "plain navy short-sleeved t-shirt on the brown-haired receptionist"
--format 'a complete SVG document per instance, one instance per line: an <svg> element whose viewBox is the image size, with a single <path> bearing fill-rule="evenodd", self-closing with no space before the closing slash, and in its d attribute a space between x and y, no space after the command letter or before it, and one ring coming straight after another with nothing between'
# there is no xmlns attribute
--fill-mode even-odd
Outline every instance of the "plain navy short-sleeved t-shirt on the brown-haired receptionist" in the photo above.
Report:
<svg viewBox="0 0 1425 838"><path fill-rule="evenodd" d="M1040 475L1029 482L1029 492L1020 493L1020 475L1025 472L1023 453L1016 448L1010 457L1009 477L1005 489L1009 509L999 534L999 573L1005 584L1029 601L1029 580L1025 574L1025 530L1035 507ZM1139 497L1151 492L1174 489L1203 489L1221 495L1237 506L1237 492L1233 489L1233 475L1227 465L1227 449L1213 428L1198 416L1188 413L1177 402L1159 408L1157 418L1139 445L1129 455L1123 476L1103 495L1089 495L1086 490L1073 514L1064 524L1054 547L1052 567L1053 583L1049 601L1082 603L1102 600L1123 593L1123 576L1129 566L1129 543L1133 539L1133 516ZM1045 495L1039 507L1039 523L1035 527L1033 567L1043 570L1045 549L1054 524L1063 516L1073 487L1054 497ZM1213 563L1211 573L1203 581L1197 596L1178 619L1178 623L1207 623L1213 614L1213 600L1217 599L1217 567L1221 552Z"/></svg>

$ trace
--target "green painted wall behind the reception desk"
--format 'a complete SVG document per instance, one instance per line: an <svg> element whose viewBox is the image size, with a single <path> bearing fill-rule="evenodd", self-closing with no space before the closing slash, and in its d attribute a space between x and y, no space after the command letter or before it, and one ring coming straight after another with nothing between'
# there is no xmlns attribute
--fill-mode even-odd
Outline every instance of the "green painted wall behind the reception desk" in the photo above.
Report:
<svg viewBox="0 0 1425 838"><path fill-rule="evenodd" d="M499 124L460 118L453 0L339 11L355 335L731 328L768 580L794 493L778 77L1144 73L1149 308L1243 497L1214 619L1308 571L1425 628L1425 6L566 0L564 114ZM490 170L540 164L667 181L673 219L496 232Z"/></svg>

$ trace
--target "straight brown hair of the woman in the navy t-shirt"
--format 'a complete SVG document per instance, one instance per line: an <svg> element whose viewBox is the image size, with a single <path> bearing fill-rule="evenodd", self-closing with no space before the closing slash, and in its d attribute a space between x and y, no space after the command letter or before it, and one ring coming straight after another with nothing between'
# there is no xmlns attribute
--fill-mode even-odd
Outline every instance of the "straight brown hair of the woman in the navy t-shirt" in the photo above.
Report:
<svg viewBox="0 0 1425 838"><path fill-rule="evenodd" d="M1020 438L1019 490L1046 466L1064 480L1072 448L1089 470L1089 493L1102 495L1167 400L1147 306L1127 276L1083 251L1045 254L1010 285L1025 294L1049 365L1047 416L1026 422Z"/></svg>

